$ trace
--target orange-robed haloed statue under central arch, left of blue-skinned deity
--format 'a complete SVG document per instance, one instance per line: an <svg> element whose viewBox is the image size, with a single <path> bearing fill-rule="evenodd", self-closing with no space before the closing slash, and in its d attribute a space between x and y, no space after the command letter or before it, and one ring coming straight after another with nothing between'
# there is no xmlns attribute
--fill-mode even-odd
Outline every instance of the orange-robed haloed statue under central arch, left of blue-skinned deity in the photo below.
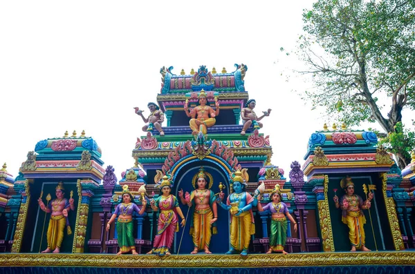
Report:
<svg viewBox="0 0 415 274"><path fill-rule="evenodd" d="M202 166L199 169L199 173L194 175L192 180L192 184L196 189L190 194L186 192L185 197L183 197L183 190L178 192L178 196L180 197L182 204L187 204L189 207L194 205L193 219L190 226L190 234L192 234L193 237L194 250L190 254L196 254L202 249L206 254L212 253L209 251L210 238L212 237L212 231L210 228L218 219L218 213L214 193L209 188L206 188L207 175L210 179L209 188L211 188L213 184L212 175L206 173ZM196 180L197 185L195 186ZM214 227L213 231L214 234L217 233L215 228L216 227Z"/></svg>

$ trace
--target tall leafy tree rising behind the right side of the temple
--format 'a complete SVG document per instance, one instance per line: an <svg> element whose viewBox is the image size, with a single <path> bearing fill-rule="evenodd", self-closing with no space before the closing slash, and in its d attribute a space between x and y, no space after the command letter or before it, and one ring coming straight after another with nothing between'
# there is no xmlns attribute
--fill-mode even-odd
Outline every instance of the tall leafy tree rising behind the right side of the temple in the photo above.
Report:
<svg viewBox="0 0 415 274"><path fill-rule="evenodd" d="M303 20L297 53L315 84L304 99L349 126L377 121L394 133L403 108L415 110L415 0L318 0Z"/></svg>

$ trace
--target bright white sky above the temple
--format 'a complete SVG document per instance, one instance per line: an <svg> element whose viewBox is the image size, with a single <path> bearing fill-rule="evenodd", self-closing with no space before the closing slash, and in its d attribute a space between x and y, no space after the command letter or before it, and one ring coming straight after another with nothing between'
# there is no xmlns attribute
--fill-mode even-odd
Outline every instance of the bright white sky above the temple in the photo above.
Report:
<svg viewBox="0 0 415 274"><path fill-rule="evenodd" d="M1 1L0 166L16 177L37 141L85 130L120 179L133 166L136 137L145 135L133 107L156 101L162 66L180 74L245 63L255 110L273 109L260 133L270 135L272 163L288 177L324 124L291 92L307 87L281 76L293 63L279 48L295 46L311 3Z"/></svg>

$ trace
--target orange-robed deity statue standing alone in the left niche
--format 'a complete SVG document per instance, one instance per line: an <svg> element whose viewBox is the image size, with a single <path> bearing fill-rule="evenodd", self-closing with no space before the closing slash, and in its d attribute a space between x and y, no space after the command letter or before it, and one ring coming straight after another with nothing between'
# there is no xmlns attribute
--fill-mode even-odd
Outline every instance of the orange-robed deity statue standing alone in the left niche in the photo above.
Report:
<svg viewBox="0 0 415 274"><path fill-rule="evenodd" d="M64 240L64 229L65 226L68 226L68 231L70 231L70 226L68 222L68 211L75 211L75 206L73 204L73 199L66 199L64 183L59 182L55 188L56 199L53 199L52 202L48 203L48 206L45 206L40 197L37 202L40 206L40 209L46 213L50 214L50 220L48 225L48 232L46 233L46 239L48 242L48 247L42 251L42 253L59 253ZM72 232L68 232L71 234Z"/></svg>

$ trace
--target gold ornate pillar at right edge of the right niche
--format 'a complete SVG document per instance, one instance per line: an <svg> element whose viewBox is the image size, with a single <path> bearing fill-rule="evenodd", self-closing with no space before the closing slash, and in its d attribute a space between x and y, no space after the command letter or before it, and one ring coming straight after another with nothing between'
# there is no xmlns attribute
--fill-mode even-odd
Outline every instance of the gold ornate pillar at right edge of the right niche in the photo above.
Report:
<svg viewBox="0 0 415 274"><path fill-rule="evenodd" d="M386 213L391 228L392 239L394 240L395 250L404 249L402 235L400 234L400 226L398 217L396 216L395 202L392 198L391 190L394 187L392 184L387 184L388 177L386 173L382 174L382 193L385 199Z"/></svg>

